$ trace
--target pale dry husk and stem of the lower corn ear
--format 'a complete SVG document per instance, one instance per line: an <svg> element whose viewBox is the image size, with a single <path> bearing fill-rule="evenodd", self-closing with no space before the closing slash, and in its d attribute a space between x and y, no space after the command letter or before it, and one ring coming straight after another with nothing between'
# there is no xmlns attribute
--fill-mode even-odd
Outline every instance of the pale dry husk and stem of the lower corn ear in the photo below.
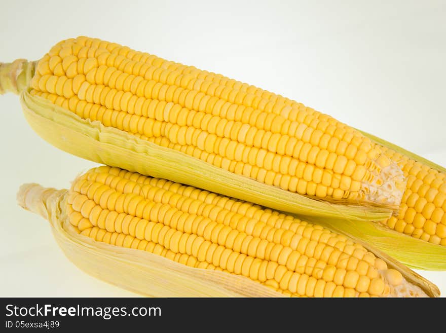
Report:
<svg viewBox="0 0 446 333"><path fill-rule="evenodd" d="M49 220L67 258L98 279L150 297L283 297L242 276L190 268L160 255L79 235L62 208L67 193L30 183L20 188L17 198L21 207Z"/></svg>

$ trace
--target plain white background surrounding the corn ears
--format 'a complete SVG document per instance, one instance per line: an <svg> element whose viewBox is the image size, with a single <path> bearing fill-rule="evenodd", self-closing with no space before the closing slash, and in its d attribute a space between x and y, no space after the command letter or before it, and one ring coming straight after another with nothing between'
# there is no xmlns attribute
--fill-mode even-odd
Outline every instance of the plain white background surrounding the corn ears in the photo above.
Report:
<svg viewBox="0 0 446 333"><path fill-rule="evenodd" d="M446 165L444 1L0 2L1 61L97 37L280 93ZM17 96L1 96L0 112L0 296L135 295L72 265L15 201L21 183L67 188L95 164L36 135ZM419 273L446 294L446 272Z"/></svg>

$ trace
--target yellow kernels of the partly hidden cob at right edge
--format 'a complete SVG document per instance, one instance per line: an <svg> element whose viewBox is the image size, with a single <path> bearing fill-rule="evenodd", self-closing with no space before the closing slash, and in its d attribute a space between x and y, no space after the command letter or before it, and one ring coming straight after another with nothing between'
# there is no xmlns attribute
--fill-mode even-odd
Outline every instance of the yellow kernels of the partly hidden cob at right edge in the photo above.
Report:
<svg viewBox="0 0 446 333"><path fill-rule="evenodd" d="M415 238L446 245L446 173L386 147L382 149L407 177L398 216L383 223Z"/></svg>

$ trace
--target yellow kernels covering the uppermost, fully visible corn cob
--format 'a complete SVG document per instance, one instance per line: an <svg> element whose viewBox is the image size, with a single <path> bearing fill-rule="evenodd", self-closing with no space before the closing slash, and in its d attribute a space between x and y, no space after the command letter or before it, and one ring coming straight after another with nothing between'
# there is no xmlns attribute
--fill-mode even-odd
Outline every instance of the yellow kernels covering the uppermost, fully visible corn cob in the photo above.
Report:
<svg viewBox="0 0 446 333"><path fill-rule="evenodd" d="M302 103L115 43L60 42L31 87L84 119L303 195L364 198L380 168L368 138Z"/></svg>

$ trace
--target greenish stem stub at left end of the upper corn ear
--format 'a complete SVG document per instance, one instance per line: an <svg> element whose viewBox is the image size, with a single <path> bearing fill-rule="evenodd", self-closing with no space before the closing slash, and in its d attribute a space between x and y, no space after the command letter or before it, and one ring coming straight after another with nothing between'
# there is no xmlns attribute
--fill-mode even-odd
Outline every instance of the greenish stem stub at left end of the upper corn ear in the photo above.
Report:
<svg viewBox="0 0 446 333"><path fill-rule="evenodd" d="M36 61L17 59L13 62L0 62L0 95L12 92L20 94L34 76Z"/></svg>

